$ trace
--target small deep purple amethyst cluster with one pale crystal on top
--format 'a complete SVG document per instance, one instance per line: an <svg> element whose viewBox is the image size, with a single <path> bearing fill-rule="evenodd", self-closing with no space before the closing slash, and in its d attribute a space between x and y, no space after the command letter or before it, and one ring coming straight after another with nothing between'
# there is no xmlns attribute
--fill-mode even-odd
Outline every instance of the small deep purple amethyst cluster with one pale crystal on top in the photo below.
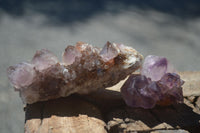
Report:
<svg viewBox="0 0 200 133"><path fill-rule="evenodd" d="M121 92L128 106L148 109L156 104L183 102L183 84L166 58L149 55L144 60L141 74L132 74Z"/></svg>

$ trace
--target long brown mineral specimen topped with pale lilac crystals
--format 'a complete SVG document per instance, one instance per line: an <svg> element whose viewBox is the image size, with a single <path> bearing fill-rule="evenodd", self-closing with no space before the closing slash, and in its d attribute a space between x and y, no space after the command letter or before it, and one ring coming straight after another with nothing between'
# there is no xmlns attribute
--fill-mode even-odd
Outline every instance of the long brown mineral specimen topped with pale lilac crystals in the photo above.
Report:
<svg viewBox="0 0 200 133"><path fill-rule="evenodd" d="M113 86L141 66L143 57L131 47L107 42L103 49L83 42L68 46L63 61L48 50L37 51L31 62L8 68L8 78L24 103L32 104L87 94Z"/></svg>

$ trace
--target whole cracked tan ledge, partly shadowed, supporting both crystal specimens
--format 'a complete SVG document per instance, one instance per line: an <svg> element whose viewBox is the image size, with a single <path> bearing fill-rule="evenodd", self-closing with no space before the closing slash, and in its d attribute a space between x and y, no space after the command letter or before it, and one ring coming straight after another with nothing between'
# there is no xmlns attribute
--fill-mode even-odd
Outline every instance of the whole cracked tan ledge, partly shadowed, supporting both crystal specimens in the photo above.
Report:
<svg viewBox="0 0 200 133"><path fill-rule="evenodd" d="M193 72L181 73L185 74L196 76ZM189 84L192 79L184 80ZM142 109L126 106L119 93L122 84L123 81L85 96L72 95L27 105L25 131L193 133L200 130L200 97L194 96L188 86L184 86L189 96L185 96L183 104ZM197 91L199 87L196 86Z"/></svg>

